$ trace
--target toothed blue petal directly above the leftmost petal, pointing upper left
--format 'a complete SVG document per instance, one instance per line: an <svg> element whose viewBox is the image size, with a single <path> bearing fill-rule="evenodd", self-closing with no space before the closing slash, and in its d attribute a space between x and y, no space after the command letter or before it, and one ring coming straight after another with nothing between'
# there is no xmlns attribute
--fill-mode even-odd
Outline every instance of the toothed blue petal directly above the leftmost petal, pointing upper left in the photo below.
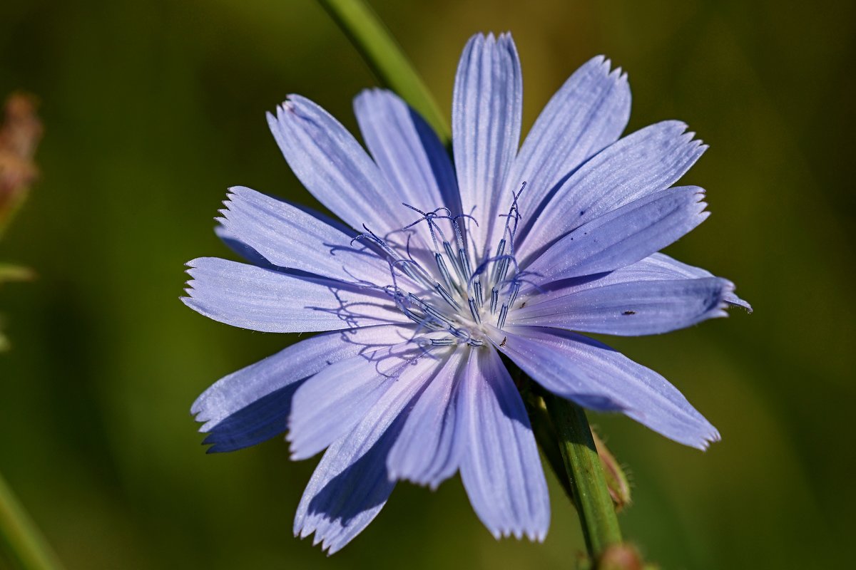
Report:
<svg viewBox="0 0 856 570"><path fill-rule="evenodd" d="M273 265L351 282L389 280L389 263L363 244L352 246L354 232L318 214L241 186L230 189L225 205L223 227Z"/></svg>

